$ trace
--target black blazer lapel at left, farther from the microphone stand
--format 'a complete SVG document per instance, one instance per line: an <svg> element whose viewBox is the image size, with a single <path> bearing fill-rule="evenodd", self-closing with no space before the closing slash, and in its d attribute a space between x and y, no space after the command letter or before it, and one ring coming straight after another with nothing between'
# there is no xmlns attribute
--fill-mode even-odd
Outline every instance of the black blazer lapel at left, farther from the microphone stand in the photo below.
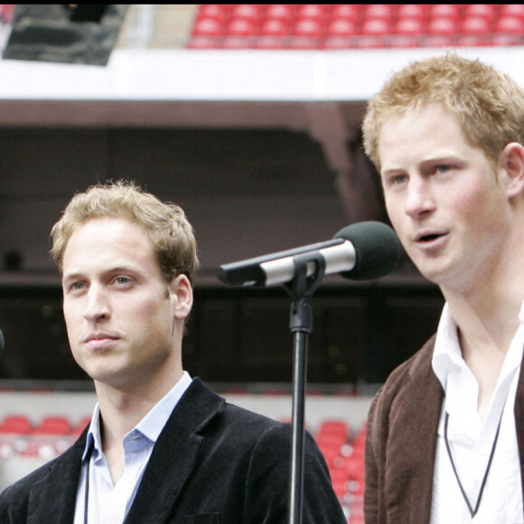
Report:
<svg viewBox="0 0 524 524"><path fill-rule="evenodd" d="M87 430L56 461L29 495L27 524L70 524L74 519ZM51 492L50 492L51 491Z"/></svg>

